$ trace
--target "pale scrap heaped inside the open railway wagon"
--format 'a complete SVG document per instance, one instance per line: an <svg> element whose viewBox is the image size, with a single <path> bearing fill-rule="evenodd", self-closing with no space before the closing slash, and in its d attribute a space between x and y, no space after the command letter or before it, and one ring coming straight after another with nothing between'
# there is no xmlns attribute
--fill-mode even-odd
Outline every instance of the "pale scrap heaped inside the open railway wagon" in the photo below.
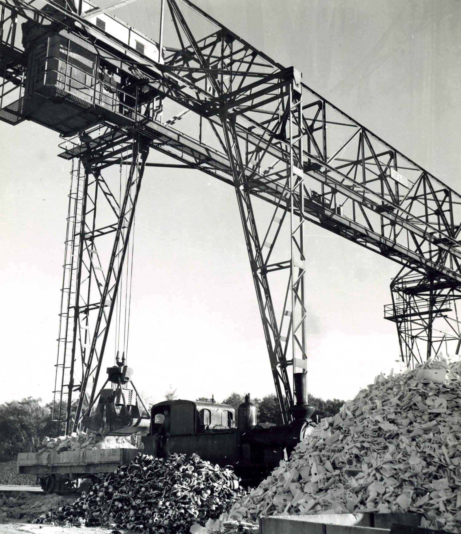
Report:
<svg viewBox="0 0 461 534"><path fill-rule="evenodd" d="M136 449L129 436L106 436L79 432L71 436L45 437L36 452L80 451L84 449Z"/></svg>

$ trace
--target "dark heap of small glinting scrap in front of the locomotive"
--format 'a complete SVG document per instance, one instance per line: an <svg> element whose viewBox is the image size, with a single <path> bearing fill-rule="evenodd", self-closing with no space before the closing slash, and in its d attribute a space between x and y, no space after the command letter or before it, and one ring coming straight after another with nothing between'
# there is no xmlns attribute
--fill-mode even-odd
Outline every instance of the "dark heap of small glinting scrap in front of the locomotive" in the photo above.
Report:
<svg viewBox="0 0 461 534"><path fill-rule="evenodd" d="M188 532L194 523L212 523L242 496L232 471L196 454L172 454L167 460L139 454L91 486L73 505L41 514L37 522Z"/></svg>

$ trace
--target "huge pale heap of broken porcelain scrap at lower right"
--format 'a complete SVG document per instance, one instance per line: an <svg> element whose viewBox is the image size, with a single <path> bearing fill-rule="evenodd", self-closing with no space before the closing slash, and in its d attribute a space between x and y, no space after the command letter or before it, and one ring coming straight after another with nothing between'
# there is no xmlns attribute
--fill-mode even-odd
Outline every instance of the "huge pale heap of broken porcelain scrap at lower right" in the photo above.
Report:
<svg viewBox="0 0 461 534"><path fill-rule="evenodd" d="M229 519L416 512L422 526L461 533L460 374L459 358L441 357L381 374L322 420Z"/></svg>

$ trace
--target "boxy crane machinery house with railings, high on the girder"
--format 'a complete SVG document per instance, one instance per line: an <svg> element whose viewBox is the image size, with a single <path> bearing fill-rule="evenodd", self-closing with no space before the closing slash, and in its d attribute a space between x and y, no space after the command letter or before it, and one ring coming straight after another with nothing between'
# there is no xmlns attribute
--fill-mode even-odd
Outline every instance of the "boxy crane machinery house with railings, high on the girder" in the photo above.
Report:
<svg viewBox="0 0 461 534"><path fill-rule="evenodd" d="M57 20L63 16L49 5L46 10L55 11ZM133 60L145 64L146 59L158 64L157 43L89 2L83 2L83 17L88 25L80 25L79 36L58 24L28 20L22 25L27 60L22 115L63 135L84 130L102 117L122 126L140 117L155 120L160 99L149 76L132 65ZM103 59L98 43L117 47L118 58L104 53ZM160 75L153 65L150 71L153 77Z"/></svg>

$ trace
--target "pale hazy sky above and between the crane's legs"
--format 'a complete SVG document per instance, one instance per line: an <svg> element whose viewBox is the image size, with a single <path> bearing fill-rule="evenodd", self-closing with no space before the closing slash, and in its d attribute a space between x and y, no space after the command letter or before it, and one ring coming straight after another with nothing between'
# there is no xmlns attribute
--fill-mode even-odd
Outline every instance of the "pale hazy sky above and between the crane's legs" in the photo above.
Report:
<svg viewBox="0 0 461 534"><path fill-rule="evenodd" d="M149 33L157 6L114 14ZM455 190L461 3L448 0L197 0L228 28ZM153 31L153 30L152 30ZM0 402L52 397L70 163L58 134L0 123ZM167 162L151 152L149 161ZM399 266L308 226L309 391L354 397L397 366L384 320ZM159 401L274 390L232 187L149 168L135 230L130 359ZM107 365L112 360L107 360Z"/></svg>

